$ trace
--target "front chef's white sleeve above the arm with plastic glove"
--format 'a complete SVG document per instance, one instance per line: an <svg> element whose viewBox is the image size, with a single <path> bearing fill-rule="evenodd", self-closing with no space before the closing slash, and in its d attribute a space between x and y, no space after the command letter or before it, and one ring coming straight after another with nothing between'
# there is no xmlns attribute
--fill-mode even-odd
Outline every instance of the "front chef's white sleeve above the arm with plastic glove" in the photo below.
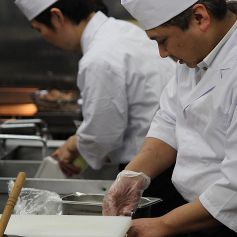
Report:
<svg viewBox="0 0 237 237"><path fill-rule="evenodd" d="M177 149L175 136L177 111L177 82L172 78L160 98L160 109L155 114L146 137L160 139Z"/></svg>

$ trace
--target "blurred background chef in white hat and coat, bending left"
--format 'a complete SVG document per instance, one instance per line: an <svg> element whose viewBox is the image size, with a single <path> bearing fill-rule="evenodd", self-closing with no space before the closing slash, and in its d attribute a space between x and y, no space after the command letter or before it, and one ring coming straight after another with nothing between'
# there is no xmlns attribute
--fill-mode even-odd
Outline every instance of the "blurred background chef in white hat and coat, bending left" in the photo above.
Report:
<svg viewBox="0 0 237 237"><path fill-rule="evenodd" d="M107 17L98 11L104 8L101 1L95 2L15 1L46 40L83 54L77 84L84 120L54 153L68 175L79 171L73 165L79 153L93 169L101 169L106 159L128 163L139 151L161 91L176 70L174 61L163 60L157 43L141 28Z"/></svg>

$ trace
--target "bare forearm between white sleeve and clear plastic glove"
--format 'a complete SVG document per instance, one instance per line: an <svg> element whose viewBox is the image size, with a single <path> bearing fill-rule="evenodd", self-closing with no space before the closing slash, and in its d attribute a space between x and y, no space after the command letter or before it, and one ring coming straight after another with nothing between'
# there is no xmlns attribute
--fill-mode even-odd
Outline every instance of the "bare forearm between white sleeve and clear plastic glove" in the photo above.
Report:
<svg viewBox="0 0 237 237"><path fill-rule="evenodd" d="M146 138L137 156L126 166L126 170L143 172L150 177L161 174L175 163L176 150L165 142Z"/></svg>

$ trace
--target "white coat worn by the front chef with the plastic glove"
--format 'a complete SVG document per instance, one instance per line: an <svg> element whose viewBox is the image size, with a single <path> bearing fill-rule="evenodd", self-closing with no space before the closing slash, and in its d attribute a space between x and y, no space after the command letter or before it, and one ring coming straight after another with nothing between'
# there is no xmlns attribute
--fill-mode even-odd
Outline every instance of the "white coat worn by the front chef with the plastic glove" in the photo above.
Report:
<svg viewBox="0 0 237 237"><path fill-rule="evenodd" d="M183 197L199 198L237 232L237 30L232 31L209 55L198 84L195 69L178 65L147 136L177 150L172 181Z"/></svg>

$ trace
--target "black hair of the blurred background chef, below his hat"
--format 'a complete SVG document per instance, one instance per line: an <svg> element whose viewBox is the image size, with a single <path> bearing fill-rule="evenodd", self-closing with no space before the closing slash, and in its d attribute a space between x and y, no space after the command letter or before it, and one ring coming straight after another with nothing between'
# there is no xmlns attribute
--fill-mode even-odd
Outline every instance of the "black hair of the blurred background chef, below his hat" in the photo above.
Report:
<svg viewBox="0 0 237 237"><path fill-rule="evenodd" d="M102 11L108 15L108 8L103 3L103 0L58 0L36 16L34 20L53 28L50 12L52 8L60 9L63 15L75 24L87 19L92 12Z"/></svg>

